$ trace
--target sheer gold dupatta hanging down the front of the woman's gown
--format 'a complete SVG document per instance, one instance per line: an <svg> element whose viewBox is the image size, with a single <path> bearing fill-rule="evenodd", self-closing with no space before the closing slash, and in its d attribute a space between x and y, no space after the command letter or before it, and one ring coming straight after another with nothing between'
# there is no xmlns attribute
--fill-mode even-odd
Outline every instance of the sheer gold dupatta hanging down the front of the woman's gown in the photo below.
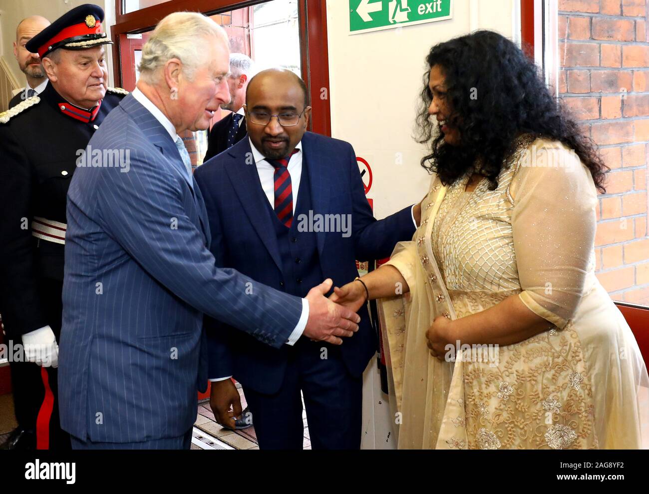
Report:
<svg viewBox="0 0 649 494"><path fill-rule="evenodd" d="M400 271L410 292L400 295L400 287L396 286L395 297L378 301L399 449L434 449L440 443L441 447L467 447L463 379L457 367L461 362L455 364L457 375L451 386L454 364L430 356L426 347L426 331L435 317L455 319L430 241L446 191L435 177L422 203L421 226L413 240L397 244L387 262ZM454 401L448 400L450 389ZM452 419L443 421L445 410ZM447 430L447 422L451 430ZM443 424L445 431L440 436Z"/></svg>

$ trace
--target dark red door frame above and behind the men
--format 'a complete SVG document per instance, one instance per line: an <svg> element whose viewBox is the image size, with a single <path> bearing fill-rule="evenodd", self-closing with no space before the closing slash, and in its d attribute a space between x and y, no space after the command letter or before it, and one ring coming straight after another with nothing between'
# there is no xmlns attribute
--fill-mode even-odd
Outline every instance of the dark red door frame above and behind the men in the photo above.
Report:
<svg viewBox="0 0 649 494"><path fill-rule="evenodd" d="M174 0L147 8L121 13L121 0L115 0L116 24L110 27L113 45L113 73L116 86L123 87L130 83L130 77L123 77L122 63L132 63L132 42L128 33L148 31L160 19L182 10L202 12L203 14L219 14L263 3L267 0ZM331 109L329 105L329 56L326 33L326 1L300 0L299 27L300 51L302 57L302 79L309 91L309 99L313 106L310 130L326 136L331 135ZM312 63L313 61L313 63ZM315 63L317 62L317 63Z"/></svg>

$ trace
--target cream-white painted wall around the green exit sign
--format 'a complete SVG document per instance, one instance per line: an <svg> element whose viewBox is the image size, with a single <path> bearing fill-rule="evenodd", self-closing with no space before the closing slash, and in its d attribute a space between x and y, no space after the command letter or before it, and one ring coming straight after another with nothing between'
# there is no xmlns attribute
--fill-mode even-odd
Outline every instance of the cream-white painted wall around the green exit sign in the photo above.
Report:
<svg viewBox="0 0 649 494"><path fill-rule="evenodd" d="M426 153L412 136L430 47L475 29L520 41L517 0L453 3L453 18L446 21L350 35L349 2L326 2L332 136L352 143L356 155L369 162L368 197L378 218L420 201L428 191L430 177L419 166ZM363 382L362 447L394 448L393 423L373 359Z"/></svg>

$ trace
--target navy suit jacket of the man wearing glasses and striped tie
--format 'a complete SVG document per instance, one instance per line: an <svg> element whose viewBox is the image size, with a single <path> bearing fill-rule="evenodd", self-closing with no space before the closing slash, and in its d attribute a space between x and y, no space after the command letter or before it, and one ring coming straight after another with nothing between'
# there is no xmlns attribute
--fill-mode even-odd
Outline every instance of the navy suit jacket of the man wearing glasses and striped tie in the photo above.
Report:
<svg viewBox="0 0 649 494"><path fill-rule="evenodd" d="M398 241L415 232L411 207L377 221L365 197L356 154L344 141L312 132L302 137L302 159L310 173L313 212L351 214L351 235L318 232L322 273L334 286L358 276L356 260L380 259ZM233 267L258 282L282 290L282 263L276 233L267 214L268 199L252 162L250 141L243 139L195 171L212 232L210 250L219 267ZM300 191L300 193L303 193ZM297 221L294 218L293 221ZM344 338L343 359L354 376L363 373L376 351L367 308L359 311L360 329ZM207 328L221 324L206 319ZM288 348L270 348L241 332L208 330L210 378L234 375L244 387L275 393L282 384Z"/></svg>

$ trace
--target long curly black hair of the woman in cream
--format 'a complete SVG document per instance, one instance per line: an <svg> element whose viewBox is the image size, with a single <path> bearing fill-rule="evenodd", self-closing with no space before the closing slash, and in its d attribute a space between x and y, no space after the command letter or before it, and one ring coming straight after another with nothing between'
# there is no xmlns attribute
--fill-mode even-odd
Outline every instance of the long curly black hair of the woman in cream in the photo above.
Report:
<svg viewBox="0 0 649 494"><path fill-rule="evenodd" d="M564 143L579 156L604 192L609 169L593 141L556 101L536 66L513 42L493 31L476 31L439 43L426 57L429 68L438 65L445 75L448 124L459 130L459 145L449 145L428 115L432 94L429 71L424 74L422 108L417 116L420 143L431 152L421 166L437 173L442 183L453 184L465 174L478 173L498 185L498 173L513 153L520 134L532 134ZM480 169L474 169L480 158Z"/></svg>

